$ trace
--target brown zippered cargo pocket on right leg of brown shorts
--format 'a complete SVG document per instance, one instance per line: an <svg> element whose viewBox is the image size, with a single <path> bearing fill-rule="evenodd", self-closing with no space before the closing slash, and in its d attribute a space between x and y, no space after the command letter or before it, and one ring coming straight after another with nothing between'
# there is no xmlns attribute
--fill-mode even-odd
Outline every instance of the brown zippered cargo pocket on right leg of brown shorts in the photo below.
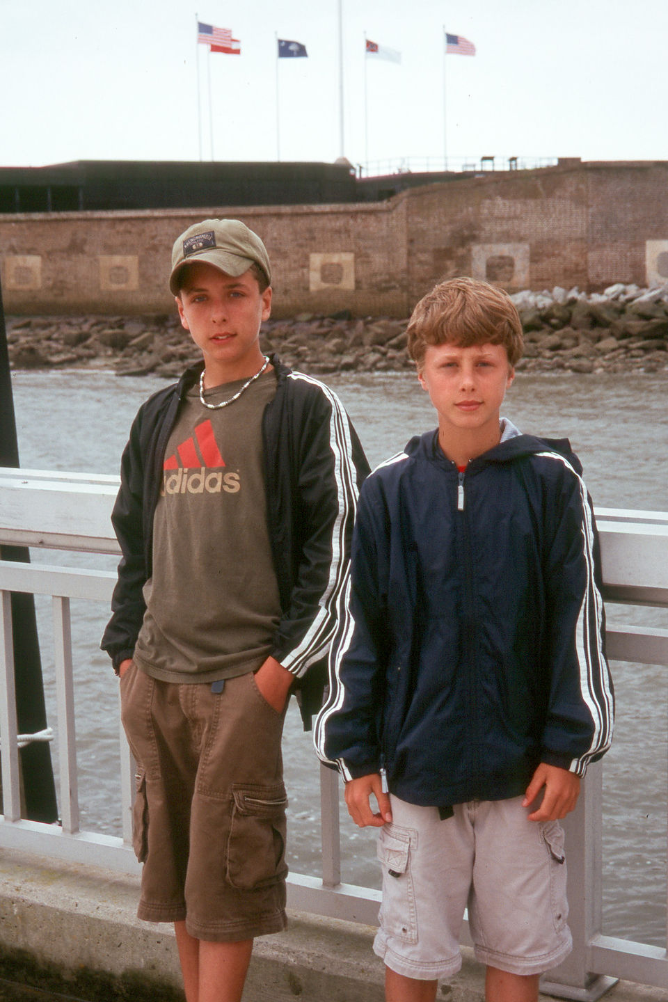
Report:
<svg viewBox="0 0 668 1002"><path fill-rule="evenodd" d="M239 891L277 884L287 873L283 784L234 784L232 797L227 880Z"/></svg>

